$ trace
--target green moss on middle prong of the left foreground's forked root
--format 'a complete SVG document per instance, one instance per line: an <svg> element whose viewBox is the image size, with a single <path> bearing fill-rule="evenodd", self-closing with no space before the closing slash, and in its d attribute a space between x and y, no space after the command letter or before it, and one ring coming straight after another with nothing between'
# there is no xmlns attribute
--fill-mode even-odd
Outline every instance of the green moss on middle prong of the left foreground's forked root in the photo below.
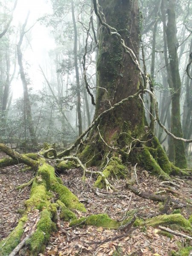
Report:
<svg viewBox="0 0 192 256"><path fill-rule="evenodd" d="M51 218L51 213L47 209L43 210L35 233L26 241L26 244L29 245L30 251L34 256L43 251L44 244L47 244L49 241L50 233L53 228Z"/></svg>

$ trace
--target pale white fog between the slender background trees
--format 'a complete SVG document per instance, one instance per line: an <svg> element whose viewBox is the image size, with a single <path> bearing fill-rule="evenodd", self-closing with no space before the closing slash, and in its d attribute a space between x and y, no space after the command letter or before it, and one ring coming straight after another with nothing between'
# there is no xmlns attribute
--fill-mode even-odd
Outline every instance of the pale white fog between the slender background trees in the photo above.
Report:
<svg viewBox="0 0 192 256"><path fill-rule="evenodd" d="M15 4L15 8L14 8ZM84 81L84 68L82 59L87 38L86 76L90 93L96 98L96 58L98 58L99 29L100 25L93 15L93 23L89 28L91 2L74 1L74 16L77 29L76 56L79 74L76 74L74 65L74 26L70 1L1 1L1 30L9 26L5 35L1 38L1 139L5 143L16 144L30 142L29 123L26 116L25 101L23 101L23 85L20 79L20 71L17 60L17 47L23 24L27 13L29 17L24 27L24 35L21 44L23 72L26 77L26 90L29 95L32 122L35 137L38 143L71 143L78 135L78 127L83 131L93 120L95 107L91 104L91 97L86 90ZM155 5L155 6L154 6ZM166 9L166 7L165 7ZM182 12L180 11L182 10ZM171 129L171 94L172 88L168 85L169 72L166 68L164 52L165 40L163 40L163 12L158 3L140 1L140 29L142 33L142 46L146 64L146 72L154 81L154 93L157 96L160 120ZM190 1L180 1L176 6L177 12L177 39L178 64L181 79L180 111L183 132L185 137L191 136L191 130L186 127L187 110L191 100L189 78L186 76L186 65L189 60L191 47L192 17ZM167 17L166 17L167 18ZM9 24L9 20L11 20ZM166 20L165 20L166 22ZM93 33L94 30L94 33ZM95 41L96 40L96 41ZM140 50L140 63L143 66L143 58ZM10 62L7 67L6 61ZM41 67L39 67L39 65ZM9 85L7 87L7 69L9 69ZM77 78L79 76L79 78ZM79 82L77 82L77 79ZM79 89L78 84L79 83ZM102 86L101 86L102 87ZM76 89L77 88L77 89ZM79 90L79 99L78 93ZM190 96L186 93L189 91ZM6 95L5 95L6 94ZM4 97L4 98L3 98ZM190 98L190 99L189 99ZM3 103L4 100L4 103ZM79 106L78 106L79 100ZM149 120L150 108L148 97L144 98L146 117ZM4 106L3 106L4 104ZM81 120L78 117L78 108L81 111ZM62 113L66 116L63 119ZM88 113L89 112L89 113ZM87 116L88 115L88 116ZM189 117L189 116L188 116ZM187 117L187 118L188 118ZM79 123L81 122L81 124ZM14 124L14 128L13 128ZM69 127L73 127L73 130ZM191 127L191 126L190 126ZM191 128L190 128L191 129ZM185 131L184 131L185 130ZM157 125L156 135L168 149L167 135Z"/></svg>

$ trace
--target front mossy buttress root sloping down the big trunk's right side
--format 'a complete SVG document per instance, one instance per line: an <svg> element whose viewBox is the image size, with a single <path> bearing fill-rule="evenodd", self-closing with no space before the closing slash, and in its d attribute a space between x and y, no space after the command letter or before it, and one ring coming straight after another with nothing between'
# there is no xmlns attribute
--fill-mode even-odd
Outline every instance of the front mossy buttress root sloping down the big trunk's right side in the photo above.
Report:
<svg viewBox="0 0 192 256"><path fill-rule="evenodd" d="M170 180L169 172L166 173L164 170L167 169L163 170L160 167L160 163L158 163L158 157L155 159L155 157L152 156L152 152L149 151L148 147L144 146L142 152L139 155L139 161L145 166L145 169L152 172L152 174L158 175L163 180Z"/></svg>

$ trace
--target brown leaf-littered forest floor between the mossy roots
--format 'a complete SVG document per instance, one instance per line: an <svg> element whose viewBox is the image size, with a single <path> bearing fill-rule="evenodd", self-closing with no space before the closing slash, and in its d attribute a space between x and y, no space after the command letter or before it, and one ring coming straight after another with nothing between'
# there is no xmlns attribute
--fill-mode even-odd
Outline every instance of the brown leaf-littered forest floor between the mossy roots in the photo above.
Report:
<svg viewBox="0 0 192 256"><path fill-rule="evenodd" d="M0 157L4 157L0 153ZM0 239L5 238L17 225L24 209L24 201L29 198L30 188L26 187L21 191L15 189L16 186L29 181L33 174L31 172L21 172L23 166L11 166L0 169ZM148 172L138 169L138 185L143 191L155 193L162 190L160 180L157 177L149 176ZM87 212L77 212L79 217L90 214L108 213L116 220L125 216L126 210L142 209L138 216L141 218L151 218L161 215L158 202L140 198L126 189L125 180L113 180L117 192L106 192L106 190L93 188L95 177L87 175L86 181L82 183L81 169L70 169L60 175L64 185L66 185L79 200L84 203ZM180 195L170 194L172 198L184 197L192 198L191 180L176 180L180 188L175 188ZM168 194L167 194L168 195ZM57 195L55 195L56 200ZM130 199L131 198L131 199ZM128 209L127 209L128 208ZM173 212L173 207L169 208L168 214ZM192 209L181 209L182 214L188 218L192 214ZM32 221L36 218L38 210L31 216ZM28 223L25 233L30 229ZM95 255L95 256L169 256L172 250L177 251L178 246L190 245L189 241L179 236L164 236L158 228L137 227L129 235L121 239L113 240L114 237L122 235L123 231L105 230L102 227L73 227L69 228L68 222L58 220L58 231L52 233L49 244L44 254L40 256L62 256L62 255ZM24 233L23 238L26 236ZM112 239L103 242L105 239ZM192 244L191 244L192 245Z"/></svg>

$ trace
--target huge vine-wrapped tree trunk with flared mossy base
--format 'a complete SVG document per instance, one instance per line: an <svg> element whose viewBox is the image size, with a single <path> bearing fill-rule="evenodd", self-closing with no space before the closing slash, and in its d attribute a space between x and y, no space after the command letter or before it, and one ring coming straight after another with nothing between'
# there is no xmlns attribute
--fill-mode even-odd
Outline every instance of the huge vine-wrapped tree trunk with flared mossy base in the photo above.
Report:
<svg viewBox="0 0 192 256"><path fill-rule="evenodd" d="M93 3L95 6L96 1ZM100 1L99 4L102 6L104 15L101 16L106 19L105 22L119 32L125 45L138 56L140 49L138 1L106 0ZM112 175L113 170L116 172L115 176L121 176L122 164L125 167L127 162L131 162L131 164L138 163L154 174L168 179L168 174L174 168L172 169L172 164L157 138L153 138L146 123L143 102L136 95L142 87L139 71L131 57L123 51L119 36L110 35L105 26L100 29L97 70L99 87L94 126L79 147L79 157L87 166L102 165L106 177ZM128 100L123 104L119 104L127 98ZM112 111L107 111L111 106L115 107ZM101 183L100 176L95 186L102 187Z"/></svg>

